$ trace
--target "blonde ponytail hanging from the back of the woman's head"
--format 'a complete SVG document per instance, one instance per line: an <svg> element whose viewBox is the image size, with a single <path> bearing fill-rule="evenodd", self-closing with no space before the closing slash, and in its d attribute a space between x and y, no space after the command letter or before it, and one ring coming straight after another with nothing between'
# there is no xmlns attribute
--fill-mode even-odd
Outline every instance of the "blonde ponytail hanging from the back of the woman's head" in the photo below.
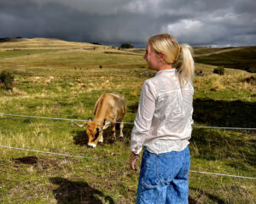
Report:
<svg viewBox="0 0 256 204"><path fill-rule="evenodd" d="M178 81L183 89L185 86L184 80L185 83L192 81L195 72L195 65L191 54L193 53L193 49L189 46L189 44L181 44L180 49L180 58L182 59L182 64L179 68L177 68L177 74Z"/></svg>

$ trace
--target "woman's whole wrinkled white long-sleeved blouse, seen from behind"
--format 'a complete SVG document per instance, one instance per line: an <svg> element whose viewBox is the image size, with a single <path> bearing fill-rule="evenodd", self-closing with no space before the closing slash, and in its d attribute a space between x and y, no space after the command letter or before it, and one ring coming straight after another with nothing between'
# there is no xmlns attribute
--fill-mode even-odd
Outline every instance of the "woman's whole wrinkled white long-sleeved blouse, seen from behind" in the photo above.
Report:
<svg viewBox="0 0 256 204"><path fill-rule="evenodd" d="M189 144L193 124L191 82L183 90L175 68L158 71L146 80L140 95L137 116L131 132L131 151L147 150L161 154L184 150Z"/></svg>

